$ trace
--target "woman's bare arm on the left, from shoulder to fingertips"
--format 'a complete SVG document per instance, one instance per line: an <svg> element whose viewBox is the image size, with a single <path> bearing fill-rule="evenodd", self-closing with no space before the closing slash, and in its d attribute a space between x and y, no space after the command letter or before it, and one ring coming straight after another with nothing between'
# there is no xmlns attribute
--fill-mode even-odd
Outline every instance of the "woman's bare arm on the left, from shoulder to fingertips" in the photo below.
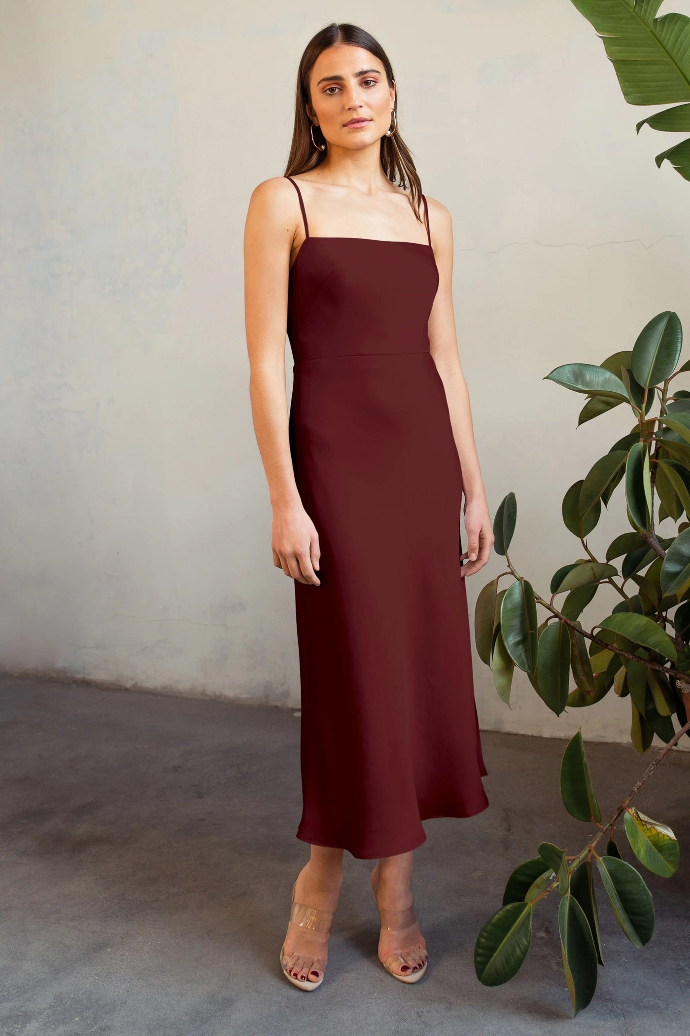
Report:
<svg viewBox="0 0 690 1036"><path fill-rule="evenodd" d="M288 279L299 219L297 193L284 177L254 189L244 228L245 328L251 416L273 508L273 564L318 586L319 536L295 482L286 394Z"/></svg>

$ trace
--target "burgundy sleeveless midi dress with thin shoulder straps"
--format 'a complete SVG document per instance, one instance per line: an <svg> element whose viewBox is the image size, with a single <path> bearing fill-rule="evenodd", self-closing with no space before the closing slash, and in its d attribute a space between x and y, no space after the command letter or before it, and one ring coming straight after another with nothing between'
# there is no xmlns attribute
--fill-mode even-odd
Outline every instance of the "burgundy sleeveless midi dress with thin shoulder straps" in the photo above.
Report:
<svg viewBox="0 0 690 1036"><path fill-rule="evenodd" d="M374 859L488 806L460 575L462 474L427 323L428 244L310 237L290 271L290 447L319 534L295 580L297 837Z"/></svg>

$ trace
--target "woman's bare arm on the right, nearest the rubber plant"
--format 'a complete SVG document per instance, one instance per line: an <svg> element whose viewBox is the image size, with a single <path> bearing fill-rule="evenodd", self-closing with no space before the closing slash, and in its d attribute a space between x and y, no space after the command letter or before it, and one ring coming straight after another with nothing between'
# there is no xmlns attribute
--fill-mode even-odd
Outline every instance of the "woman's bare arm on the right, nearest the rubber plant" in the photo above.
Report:
<svg viewBox="0 0 690 1036"><path fill-rule="evenodd" d="M460 366L453 312L453 228L445 205L427 197L429 227L437 266L439 290L429 317L431 355L446 390L453 436L462 468L464 492L464 527L468 534L467 555L462 574L472 575L488 560L493 544L493 529L486 501L486 492L479 468L475 445L470 394ZM462 554L464 557L466 554Z"/></svg>

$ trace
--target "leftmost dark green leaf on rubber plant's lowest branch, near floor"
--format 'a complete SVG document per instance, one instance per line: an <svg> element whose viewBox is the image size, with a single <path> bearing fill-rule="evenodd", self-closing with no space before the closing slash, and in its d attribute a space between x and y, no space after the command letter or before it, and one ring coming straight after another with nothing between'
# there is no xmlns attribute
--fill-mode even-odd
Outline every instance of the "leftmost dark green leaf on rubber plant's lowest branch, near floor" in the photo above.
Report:
<svg viewBox="0 0 690 1036"><path fill-rule="evenodd" d="M507 903L484 924L475 943L475 972L483 985L501 985L517 974L532 941L530 903Z"/></svg>

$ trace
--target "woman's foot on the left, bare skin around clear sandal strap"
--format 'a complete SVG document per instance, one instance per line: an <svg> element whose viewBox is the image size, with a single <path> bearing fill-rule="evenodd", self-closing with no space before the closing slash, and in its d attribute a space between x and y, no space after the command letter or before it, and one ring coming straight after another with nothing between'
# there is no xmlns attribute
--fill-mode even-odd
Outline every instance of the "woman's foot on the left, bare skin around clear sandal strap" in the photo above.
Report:
<svg viewBox="0 0 690 1036"><path fill-rule="evenodd" d="M317 906L319 910L335 912L340 886L342 885L342 869L321 871L314 874L307 861L295 885L295 902ZM303 982L307 979L319 982L324 975L328 961L328 931L314 931L312 928L288 922L282 960L286 971Z"/></svg>

